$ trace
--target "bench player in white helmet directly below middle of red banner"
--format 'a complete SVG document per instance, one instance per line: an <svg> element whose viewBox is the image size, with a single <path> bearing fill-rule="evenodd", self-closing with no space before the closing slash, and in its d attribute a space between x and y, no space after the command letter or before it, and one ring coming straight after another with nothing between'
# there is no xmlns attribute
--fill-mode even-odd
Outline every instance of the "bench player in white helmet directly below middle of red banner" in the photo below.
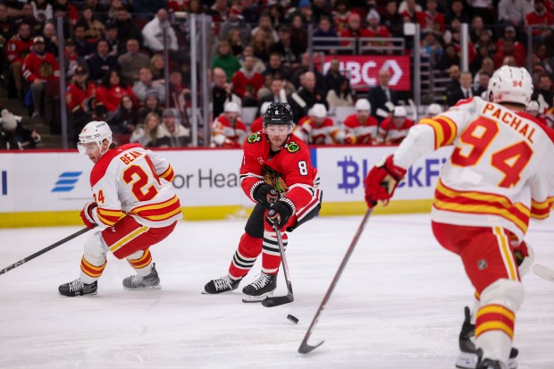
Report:
<svg viewBox="0 0 554 369"><path fill-rule="evenodd" d="M356 113L348 115L343 124L348 133L354 135L358 145L373 145L377 138L379 123L370 115L371 105L365 98L356 102Z"/></svg>

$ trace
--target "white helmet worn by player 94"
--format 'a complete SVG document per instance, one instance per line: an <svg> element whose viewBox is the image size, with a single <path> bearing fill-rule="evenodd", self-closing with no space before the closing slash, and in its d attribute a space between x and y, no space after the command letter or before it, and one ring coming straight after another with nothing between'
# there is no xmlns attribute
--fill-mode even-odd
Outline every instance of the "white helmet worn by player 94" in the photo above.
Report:
<svg viewBox="0 0 554 369"><path fill-rule="evenodd" d="M533 95L533 80L525 68L503 65L492 74L487 92L493 103L527 105Z"/></svg>

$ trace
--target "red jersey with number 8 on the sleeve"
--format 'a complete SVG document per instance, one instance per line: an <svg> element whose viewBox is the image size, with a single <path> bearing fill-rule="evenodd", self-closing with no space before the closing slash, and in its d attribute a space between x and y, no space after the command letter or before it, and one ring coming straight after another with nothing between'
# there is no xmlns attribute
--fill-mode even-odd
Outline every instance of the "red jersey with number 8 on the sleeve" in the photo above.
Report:
<svg viewBox="0 0 554 369"><path fill-rule="evenodd" d="M256 186L266 182L290 200L287 204L298 218L321 202L317 169L312 166L308 147L297 136L291 134L281 150L270 155L269 141L256 132L244 141L243 150L240 186L252 201L256 203Z"/></svg>

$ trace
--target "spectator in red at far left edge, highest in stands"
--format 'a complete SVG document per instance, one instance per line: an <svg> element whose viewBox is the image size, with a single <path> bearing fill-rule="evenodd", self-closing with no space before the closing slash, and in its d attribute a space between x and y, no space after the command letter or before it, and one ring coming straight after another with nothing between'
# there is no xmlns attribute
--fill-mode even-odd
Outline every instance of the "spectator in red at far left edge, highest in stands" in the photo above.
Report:
<svg viewBox="0 0 554 369"><path fill-rule="evenodd" d="M20 23L17 34L10 38L6 44L6 56L10 65L10 73L17 89L17 96L21 99L23 98L23 59L30 53L31 45L32 40L30 39L30 29L27 23Z"/></svg>

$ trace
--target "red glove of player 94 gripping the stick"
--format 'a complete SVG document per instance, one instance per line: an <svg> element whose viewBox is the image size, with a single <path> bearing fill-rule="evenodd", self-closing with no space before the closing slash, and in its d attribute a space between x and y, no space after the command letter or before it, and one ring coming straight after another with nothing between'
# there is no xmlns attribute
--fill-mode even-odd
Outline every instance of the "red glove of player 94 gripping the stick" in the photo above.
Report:
<svg viewBox="0 0 554 369"><path fill-rule="evenodd" d="M383 205L389 203L390 197L404 178L406 169L392 163L392 155L387 156L382 162L376 164L365 177L365 202L373 208L378 201Z"/></svg>

